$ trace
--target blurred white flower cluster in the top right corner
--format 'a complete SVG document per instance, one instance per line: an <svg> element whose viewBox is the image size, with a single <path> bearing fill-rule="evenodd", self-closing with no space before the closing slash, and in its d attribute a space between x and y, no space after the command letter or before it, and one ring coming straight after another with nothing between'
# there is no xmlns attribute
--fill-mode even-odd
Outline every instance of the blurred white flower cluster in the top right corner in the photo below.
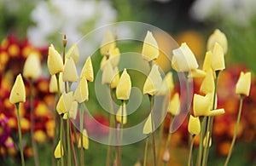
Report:
<svg viewBox="0 0 256 166"><path fill-rule="evenodd" d="M221 19L237 26L249 26L255 8L255 0L196 0L190 12L196 20Z"/></svg>

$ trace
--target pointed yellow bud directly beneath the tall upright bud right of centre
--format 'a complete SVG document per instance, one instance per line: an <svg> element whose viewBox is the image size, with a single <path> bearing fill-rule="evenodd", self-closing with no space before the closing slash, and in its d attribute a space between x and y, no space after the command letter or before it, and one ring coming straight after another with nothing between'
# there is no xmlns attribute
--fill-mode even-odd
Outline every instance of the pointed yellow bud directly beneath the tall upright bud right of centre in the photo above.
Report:
<svg viewBox="0 0 256 166"><path fill-rule="evenodd" d="M162 77L160 76L158 66L154 65L148 74L146 82L144 83L143 94L156 94L160 90L161 83Z"/></svg>

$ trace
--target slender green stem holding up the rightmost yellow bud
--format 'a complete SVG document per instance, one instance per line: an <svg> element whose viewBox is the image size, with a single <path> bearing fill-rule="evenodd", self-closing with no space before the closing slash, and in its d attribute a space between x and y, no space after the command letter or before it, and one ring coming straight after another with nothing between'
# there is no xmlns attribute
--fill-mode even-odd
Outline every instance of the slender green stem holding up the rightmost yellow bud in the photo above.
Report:
<svg viewBox="0 0 256 166"><path fill-rule="evenodd" d="M230 161L231 153L233 151L233 147L234 147L235 142L236 142L236 134L237 134L237 130L238 130L238 127L239 127L240 118L241 118L242 101L243 101L243 95L240 96L240 106L239 106L238 116L237 116L237 119L236 119L236 128L235 128L235 132L234 132L234 135L233 135L232 143L231 143L231 146L230 146L230 151L229 151L228 157L226 158L224 166L228 165L228 163Z"/></svg>

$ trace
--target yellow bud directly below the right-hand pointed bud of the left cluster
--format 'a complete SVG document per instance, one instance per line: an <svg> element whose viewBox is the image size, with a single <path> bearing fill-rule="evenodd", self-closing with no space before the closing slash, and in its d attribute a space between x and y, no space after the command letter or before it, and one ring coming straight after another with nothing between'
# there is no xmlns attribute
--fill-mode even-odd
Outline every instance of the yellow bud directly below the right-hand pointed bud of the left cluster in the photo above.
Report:
<svg viewBox="0 0 256 166"><path fill-rule="evenodd" d="M80 83L73 94L73 100L79 103L89 100L88 83L85 77L80 79Z"/></svg>

